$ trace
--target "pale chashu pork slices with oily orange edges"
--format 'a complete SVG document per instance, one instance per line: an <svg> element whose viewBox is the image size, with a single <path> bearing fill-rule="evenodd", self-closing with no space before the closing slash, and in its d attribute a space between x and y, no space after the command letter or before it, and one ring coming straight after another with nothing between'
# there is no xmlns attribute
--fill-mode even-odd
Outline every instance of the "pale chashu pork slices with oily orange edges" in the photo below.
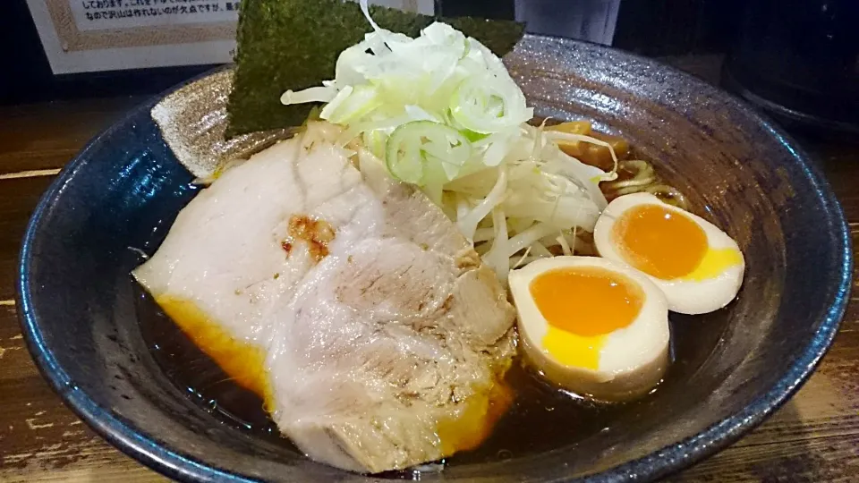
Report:
<svg viewBox="0 0 859 483"><path fill-rule="evenodd" d="M313 123L191 201L134 271L310 458L378 472L478 445L514 310L421 192Z"/></svg>

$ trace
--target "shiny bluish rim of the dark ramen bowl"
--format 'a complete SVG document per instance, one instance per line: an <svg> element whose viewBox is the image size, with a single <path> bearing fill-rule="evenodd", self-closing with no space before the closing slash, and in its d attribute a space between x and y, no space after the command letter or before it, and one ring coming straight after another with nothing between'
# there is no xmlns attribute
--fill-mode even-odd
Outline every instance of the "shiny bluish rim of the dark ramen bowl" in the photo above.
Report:
<svg viewBox="0 0 859 483"><path fill-rule="evenodd" d="M688 468L693 463L700 462L718 453L727 447L727 445L736 442L745 433L758 427L761 422L768 419L774 411L777 411L778 408L787 402L804 385L805 381L811 377L814 369L817 368L823 356L829 351L829 347L838 333L838 326L840 325L841 318L844 317L850 291L853 286L852 239L846 217L838 199L829 186L829 182L822 174L821 169L812 161L812 157L803 148L800 148L799 144L785 131L782 131L780 127L770 121L765 114L755 111L752 106L734 94L724 89L719 89L718 86L711 85L693 74L680 71L668 64L663 64L658 60L614 47L602 46L583 40L535 34L525 34L523 40L549 40L573 48L584 47L604 54L625 57L633 61L634 64L671 72L701 89L713 92L724 99L731 109L749 116L754 123L759 124L770 136L791 151L796 163L803 169L806 179L815 188L813 192L816 194L816 198L821 200L824 216L837 228L836 232L832 233L832 236L836 242L836 254L841 264L838 276L832 277L832 287L835 289L834 295L831 300L827 301L828 309L825 310L820 327L774 385L768 387L755 397L752 402L746 404L742 411L738 411L720 420L718 423L694 436L689 436L641 458L622 463L599 473L592 473L582 477L563 477L554 481L608 483L631 480L651 481L662 478L676 471ZM155 439L142 434L139 428L125 423L122 419L112 414L109 409L100 407L88 394L85 394L80 388L75 386L71 377L66 374L63 367L55 359L53 352L47 348L41 329L39 328L38 318L36 317L31 301L30 285L32 284L32 279L30 278L30 263L33 245L38 237L38 229L43 218L53 208L55 198L63 190L64 185L71 181L77 170L81 168L81 165L86 164L86 155L90 150L97 147L102 140L109 138L115 131L119 130L120 126L133 117L141 114L143 111L148 112L151 110L166 95L197 80L230 68L229 64L217 67L189 80L185 80L161 94L150 97L140 103L140 105L132 108L105 131L102 131L95 138L89 140L87 145L81 149L72 161L64 166L62 172L57 175L54 182L51 183L50 187L42 195L41 199L39 199L38 205L33 211L27 225L19 256L19 271L16 284L17 313L21 324L21 333L24 335L27 348L42 377L47 380L51 388L61 397L65 405L72 412L111 445L114 445L123 453L131 456L151 470L156 470L170 478L184 481L212 481L216 479L218 481L250 483L255 480L236 475L207 462L198 461L187 454L183 454L181 451L160 445Z"/></svg>

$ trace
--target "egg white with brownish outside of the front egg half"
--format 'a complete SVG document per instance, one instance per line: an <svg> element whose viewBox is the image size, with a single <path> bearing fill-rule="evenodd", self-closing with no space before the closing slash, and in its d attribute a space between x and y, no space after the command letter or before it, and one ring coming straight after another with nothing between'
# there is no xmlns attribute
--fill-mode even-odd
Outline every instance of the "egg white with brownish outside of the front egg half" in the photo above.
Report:
<svg viewBox="0 0 859 483"><path fill-rule="evenodd" d="M542 344L549 322L533 300L530 286L540 274L567 267L598 267L624 275L643 292L642 309L625 328L608 334L597 369L573 367L558 361ZM668 302L665 295L637 270L596 257L555 257L536 260L509 275L518 311L518 328L527 360L550 382L576 394L604 401L626 401L647 394L659 384L669 362ZM589 301L569 297L571 304Z"/></svg>

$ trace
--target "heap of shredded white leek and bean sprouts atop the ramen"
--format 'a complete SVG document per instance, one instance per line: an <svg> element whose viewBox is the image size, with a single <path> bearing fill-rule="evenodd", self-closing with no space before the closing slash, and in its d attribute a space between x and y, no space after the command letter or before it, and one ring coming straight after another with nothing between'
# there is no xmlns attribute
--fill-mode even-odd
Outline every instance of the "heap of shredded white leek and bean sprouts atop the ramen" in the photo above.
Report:
<svg viewBox="0 0 859 483"><path fill-rule="evenodd" d="M361 140L361 173L378 169L424 191L506 281L511 267L573 253L608 204L599 182L616 178L608 143L527 122L533 110L501 59L474 38L435 22L418 38L378 27L344 50L334 80L285 105L323 102L319 117ZM606 146L606 173L567 156L556 140ZM378 157L381 163L365 163ZM365 166L365 164L367 164Z"/></svg>

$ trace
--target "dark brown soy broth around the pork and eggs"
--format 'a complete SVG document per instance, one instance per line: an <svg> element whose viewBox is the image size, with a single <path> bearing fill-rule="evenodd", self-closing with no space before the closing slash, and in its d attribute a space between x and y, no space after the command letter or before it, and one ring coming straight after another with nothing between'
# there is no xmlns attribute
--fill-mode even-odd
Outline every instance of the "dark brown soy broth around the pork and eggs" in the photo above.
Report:
<svg viewBox="0 0 859 483"><path fill-rule="evenodd" d="M140 286L137 286L137 291L137 315L142 334L157 364L175 386L226 425L300 453L281 436L275 422L263 410L259 396L231 381L166 316L148 293ZM700 347L701 341L694 340L697 335L690 321L677 323L676 318L679 317L676 314L671 316L672 353L696 359L694 355L699 354L696 347ZM710 348L714 345L715 341ZM667 378L674 377L675 365L669 367ZM457 453L447 459L447 465L497 462L574 445L609 428L625 411L632 411L637 404L653 397L651 394L627 403L591 402L549 385L531 369L524 368L518 358L508 371L506 382L515 392L515 402L510 410L480 447ZM402 479L411 478L411 474L412 471L400 471L380 476Z"/></svg>

